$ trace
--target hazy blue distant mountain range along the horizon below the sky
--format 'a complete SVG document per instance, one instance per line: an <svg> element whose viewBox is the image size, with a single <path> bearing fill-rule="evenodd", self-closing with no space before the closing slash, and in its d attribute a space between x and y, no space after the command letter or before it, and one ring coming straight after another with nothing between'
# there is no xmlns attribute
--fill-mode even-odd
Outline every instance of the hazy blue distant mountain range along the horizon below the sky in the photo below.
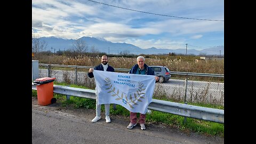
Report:
<svg viewBox="0 0 256 144"><path fill-rule="evenodd" d="M46 51L55 52L57 51L65 51L65 50L73 50L75 39L63 39L57 37L41 37L39 38L42 41L47 43ZM105 52L109 54L119 54L119 53L129 53L129 54L168 54L168 53L175 53L175 54L186 54L185 49L157 49L156 47L151 47L148 49L141 49L138 46L127 44L127 43L112 43L107 41L101 37L81 37L87 45L88 45L88 52L91 52L91 47L94 46L95 50L99 52ZM218 55L221 52L221 56L224 55L224 47L223 46L216 46L209 49L203 50L195 50L195 49L187 49L187 54L204 54L204 55Z"/></svg>

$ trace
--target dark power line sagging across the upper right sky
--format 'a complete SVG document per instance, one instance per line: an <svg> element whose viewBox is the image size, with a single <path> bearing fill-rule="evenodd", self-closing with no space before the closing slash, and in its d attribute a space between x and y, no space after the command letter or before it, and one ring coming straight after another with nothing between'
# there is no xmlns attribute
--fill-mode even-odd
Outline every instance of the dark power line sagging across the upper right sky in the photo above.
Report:
<svg viewBox="0 0 256 144"><path fill-rule="evenodd" d="M87 0L87 1L91 1L91 0ZM110 5L110 4L105 4L105 3L95 2L95 1L91 1L91 2L99 3L99 4L104 4L104 5L108 5L108 6L113 6L113 7L117 7L119 9L125 9L125 10L130 10L130 11L135 11L135 12L161 15L161 16L165 16L165 17L173 17L173 18L181 18L181 19L191 19L191 20L224 21L224 20L210 20L210 19L195 19L195 18L175 17L175 16L165 15L165 14L157 14L157 13L151 13L151 12L143 12L143 11L138 11L138 10L132 10L132 9L127 9L127 8L120 7L120 6L115 6L115 5Z"/></svg>

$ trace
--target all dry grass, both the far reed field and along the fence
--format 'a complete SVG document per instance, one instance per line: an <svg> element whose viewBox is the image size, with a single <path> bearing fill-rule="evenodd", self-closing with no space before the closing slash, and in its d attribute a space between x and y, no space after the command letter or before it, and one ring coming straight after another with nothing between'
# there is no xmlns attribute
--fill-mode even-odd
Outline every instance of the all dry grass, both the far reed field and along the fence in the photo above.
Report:
<svg viewBox="0 0 256 144"><path fill-rule="evenodd" d="M195 57L170 57L169 55L159 55L153 57L146 57L145 63L147 65L167 66L171 71L190 72L190 73L208 73L208 74L224 74L224 62L222 61L204 61L201 60L197 63L193 60ZM76 65L76 66L97 66L101 63L99 55L78 55L74 57L67 57L63 55L35 55L33 60L39 60L39 63L50 63L58 65ZM124 57L110 57L109 65L114 68L126 68L130 69L136 63L136 58L124 58ZM84 85L90 89L95 88L94 78L89 78L87 73L78 75L77 79L74 74L70 75L68 69L63 69L62 79L67 84ZM69 69L70 70L70 69ZM74 70L73 70L74 71ZM79 69L78 71L87 72L87 69ZM52 70L50 71L51 75ZM42 77L42 74L40 74ZM172 75L172 79L185 79L182 75ZM76 80L75 80L76 79ZM188 76L189 81L203 80L207 84L202 85L200 89L194 89L193 85L191 89L187 91L188 102L199 103L211 103L213 105L224 104L224 90L217 89L219 97L215 97L215 94L209 93L209 85L212 82L223 82L223 78L218 77L200 77L200 76ZM184 85L179 85L173 89L166 89L162 84L156 84L154 91L154 98L156 99L171 99L174 102L180 102L184 100Z"/></svg>

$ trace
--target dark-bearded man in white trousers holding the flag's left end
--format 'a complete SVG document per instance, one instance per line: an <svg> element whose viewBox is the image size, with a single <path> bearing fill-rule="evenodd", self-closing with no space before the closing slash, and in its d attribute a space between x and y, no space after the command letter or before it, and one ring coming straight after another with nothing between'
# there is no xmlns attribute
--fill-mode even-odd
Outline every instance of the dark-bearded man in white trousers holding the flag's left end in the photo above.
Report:
<svg viewBox="0 0 256 144"><path fill-rule="evenodd" d="M102 57L101 57L101 64L98 65L98 66L95 66L94 69L95 70L102 70L102 71L112 71L112 72L115 71L113 67L108 65L108 57L107 57L107 55L102 55ZM89 69L88 76L90 78L94 77L93 69L92 68ZM95 91L96 91L96 94L97 94L96 87L95 87ZM98 105L98 97L97 96L98 95L96 95L96 116L92 119L93 123L97 122L101 118L101 116L100 116L101 105ZM102 96L104 96L104 95L102 95ZM105 116L106 116L105 119L106 119L107 123L111 122L110 118L109 118L109 108L110 108L110 104L105 104Z"/></svg>

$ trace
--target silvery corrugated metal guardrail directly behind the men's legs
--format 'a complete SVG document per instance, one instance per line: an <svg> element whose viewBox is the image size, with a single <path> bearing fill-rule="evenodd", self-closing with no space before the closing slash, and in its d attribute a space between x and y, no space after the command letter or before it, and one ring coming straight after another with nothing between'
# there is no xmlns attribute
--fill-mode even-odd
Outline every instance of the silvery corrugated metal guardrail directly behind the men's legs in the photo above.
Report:
<svg viewBox="0 0 256 144"><path fill-rule="evenodd" d="M37 90L34 83L32 83L32 90ZM81 89L69 86L53 85L53 93L96 99L95 90ZM152 102L149 103L148 109L224 124L224 110L222 109L198 107L156 99L153 99Z"/></svg>

